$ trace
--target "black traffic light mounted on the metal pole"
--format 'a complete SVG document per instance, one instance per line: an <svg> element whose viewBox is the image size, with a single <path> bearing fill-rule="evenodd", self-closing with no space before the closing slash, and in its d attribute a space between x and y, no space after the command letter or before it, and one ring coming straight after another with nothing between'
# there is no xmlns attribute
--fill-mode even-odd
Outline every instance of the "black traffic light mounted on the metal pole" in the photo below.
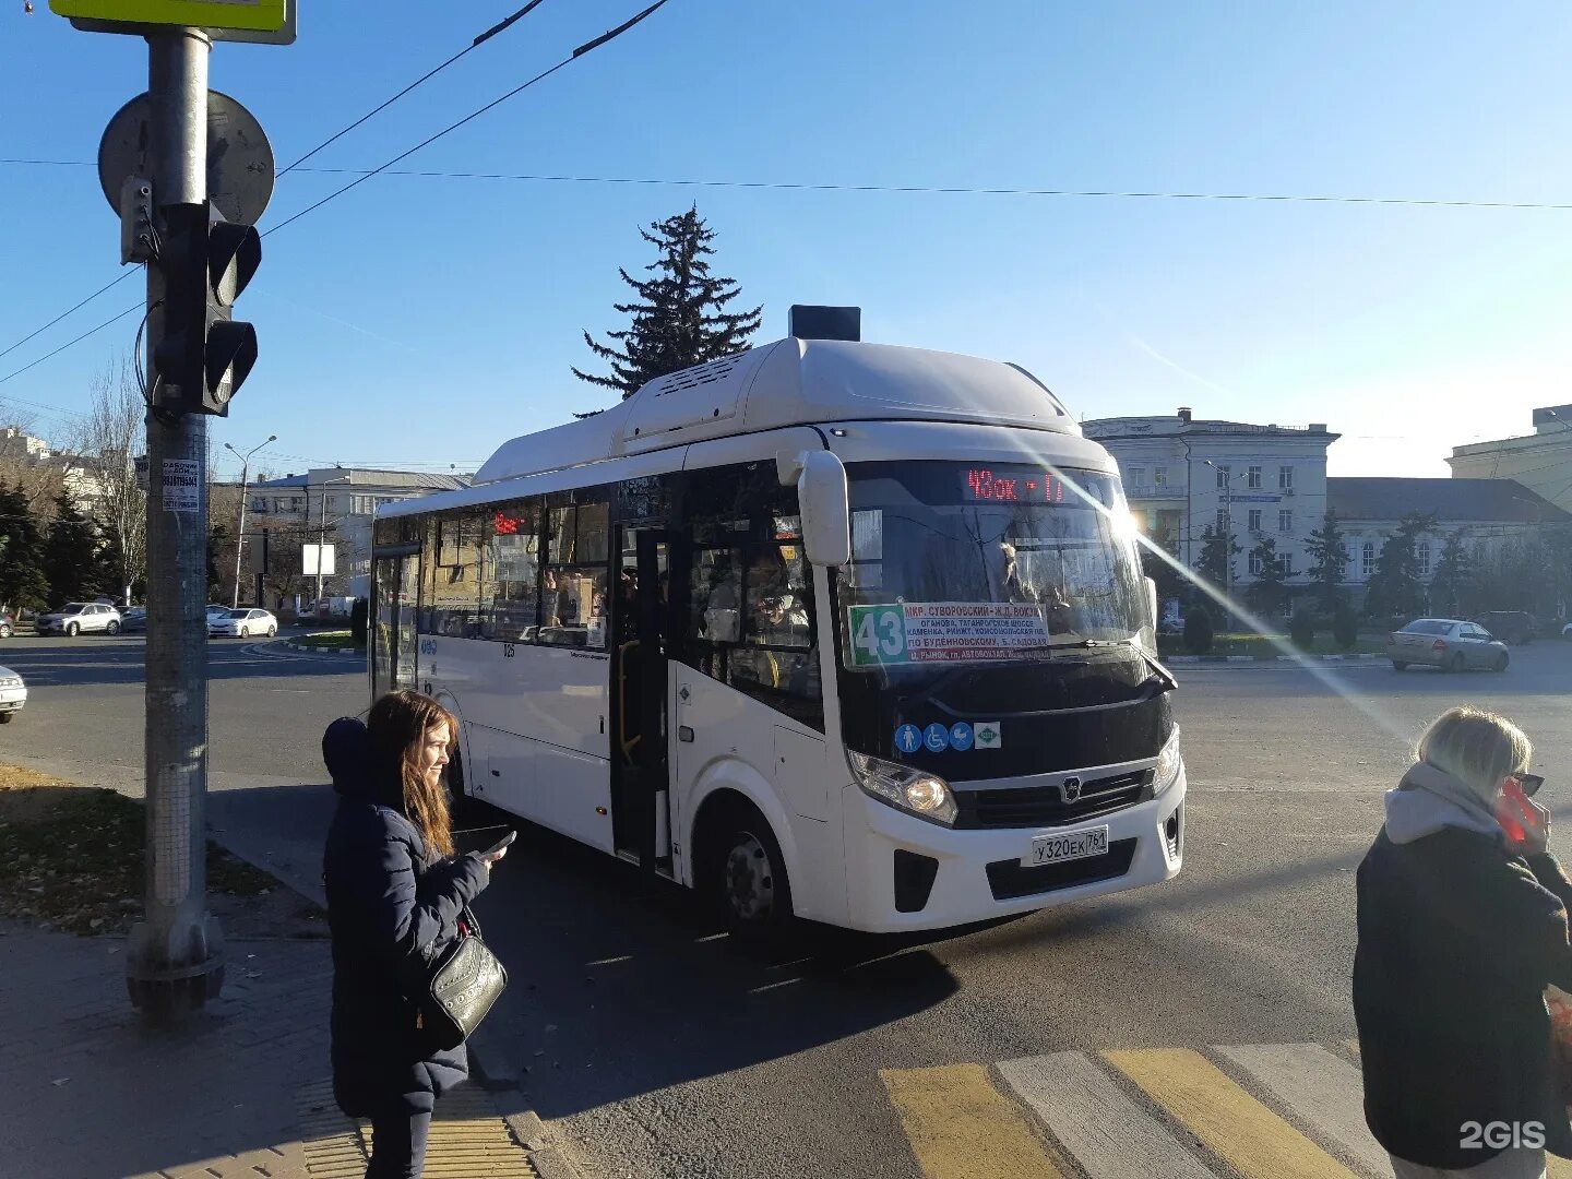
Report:
<svg viewBox="0 0 1572 1179"><path fill-rule="evenodd" d="M231 225L208 204L167 204L163 223L163 333L152 349L152 404L223 417L256 363L256 329L231 319L230 308L263 261L263 241L253 226Z"/></svg>

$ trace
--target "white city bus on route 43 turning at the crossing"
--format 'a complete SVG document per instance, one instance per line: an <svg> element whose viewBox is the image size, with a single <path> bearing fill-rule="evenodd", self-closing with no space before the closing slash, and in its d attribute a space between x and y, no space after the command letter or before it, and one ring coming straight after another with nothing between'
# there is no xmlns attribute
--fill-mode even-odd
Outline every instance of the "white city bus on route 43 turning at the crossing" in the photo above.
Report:
<svg viewBox="0 0 1572 1179"><path fill-rule="evenodd" d="M374 527L371 692L454 794L740 931L1173 877L1185 773L1113 459L1014 365L788 338L505 443Z"/></svg>

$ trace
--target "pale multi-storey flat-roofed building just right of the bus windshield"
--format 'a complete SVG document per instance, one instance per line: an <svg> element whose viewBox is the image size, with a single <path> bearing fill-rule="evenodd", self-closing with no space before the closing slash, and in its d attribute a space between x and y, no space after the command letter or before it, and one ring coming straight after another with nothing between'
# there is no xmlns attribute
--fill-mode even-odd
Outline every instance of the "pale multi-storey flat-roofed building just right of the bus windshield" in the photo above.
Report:
<svg viewBox="0 0 1572 1179"><path fill-rule="evenodd" d="M1118 461L1137 523L1187 566L1214 528L1232 531L1245 550L1234 561L1237 585L1254 580L1248 552L1264 538L1276 542L1289 583L1303 583L1305 538L1327 514L1327 448L1338 440L1325 424L1209 421L1181 409L1082 429Z"/></svg>

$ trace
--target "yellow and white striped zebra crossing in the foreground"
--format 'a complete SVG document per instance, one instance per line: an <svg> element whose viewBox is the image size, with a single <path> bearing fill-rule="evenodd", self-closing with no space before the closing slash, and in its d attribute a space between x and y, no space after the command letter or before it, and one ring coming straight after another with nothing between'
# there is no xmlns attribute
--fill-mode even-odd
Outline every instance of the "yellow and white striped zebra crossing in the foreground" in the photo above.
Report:
<svg viewBox="0 0 1572 1179"><path fill-rule="evenodd" d="M1390 1179L1358 1049L1056 1052L879 1074L924 1179ZM1550 1179L1572 1163L1550 1159Z"/></svg>

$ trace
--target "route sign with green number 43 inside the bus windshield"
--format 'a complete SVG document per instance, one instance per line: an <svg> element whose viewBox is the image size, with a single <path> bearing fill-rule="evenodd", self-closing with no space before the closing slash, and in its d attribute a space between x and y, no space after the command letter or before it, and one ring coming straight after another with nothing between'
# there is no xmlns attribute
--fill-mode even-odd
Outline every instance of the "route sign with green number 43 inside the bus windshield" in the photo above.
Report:
<svg viewBox="0 0 1572 1179"><path fill-rule="evenodd" d="M1041 659L1049 621L1036 602L894 602L846 608L852 667Z"/></svg>

